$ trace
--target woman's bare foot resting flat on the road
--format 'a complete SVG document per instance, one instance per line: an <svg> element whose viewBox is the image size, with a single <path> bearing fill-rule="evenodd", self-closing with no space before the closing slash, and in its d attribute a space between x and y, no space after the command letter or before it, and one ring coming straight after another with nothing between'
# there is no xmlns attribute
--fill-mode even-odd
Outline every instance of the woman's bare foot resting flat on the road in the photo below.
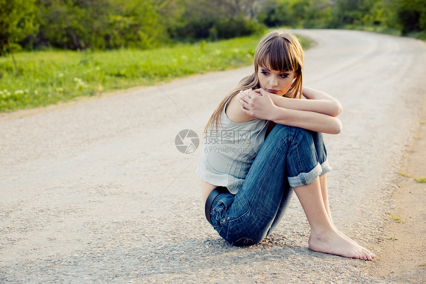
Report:
<svg viewBox="0 0 426 284"><path fill-rule="evenodd" d="M348 258L372 260L375 256L366 248L337 230L313 233L309 236L309 248L318 252L340 255Z"/></svg>

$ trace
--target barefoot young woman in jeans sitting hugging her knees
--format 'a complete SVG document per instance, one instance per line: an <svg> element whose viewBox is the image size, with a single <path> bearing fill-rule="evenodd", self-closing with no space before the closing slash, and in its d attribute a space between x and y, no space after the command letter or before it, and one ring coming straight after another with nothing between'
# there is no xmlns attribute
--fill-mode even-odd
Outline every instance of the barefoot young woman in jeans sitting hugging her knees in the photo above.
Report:
<svg viewBox="0 0 426 284"><path fill-rule="evenodd" d="M302 87L303 56L291 33L270 31L256 49L254 73L210 118L197 169L206 218L232 245L252 245L278 225L294 190L311 227L310 249L372 260L333 224L321 132L341 131L342 108Z"/></svg>

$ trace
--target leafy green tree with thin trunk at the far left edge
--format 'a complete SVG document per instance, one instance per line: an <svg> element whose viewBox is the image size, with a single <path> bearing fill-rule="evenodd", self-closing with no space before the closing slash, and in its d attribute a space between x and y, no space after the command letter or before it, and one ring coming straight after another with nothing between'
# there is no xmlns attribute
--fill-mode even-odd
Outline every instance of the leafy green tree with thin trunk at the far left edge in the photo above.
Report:
<svg viewBox="0 0 426 284"><path fill-rule="evenodd" d="M35 22L34 0L0 0L0 55L12 55L15 73L18 76L13 50L17 43L38 30Z"/></svg>

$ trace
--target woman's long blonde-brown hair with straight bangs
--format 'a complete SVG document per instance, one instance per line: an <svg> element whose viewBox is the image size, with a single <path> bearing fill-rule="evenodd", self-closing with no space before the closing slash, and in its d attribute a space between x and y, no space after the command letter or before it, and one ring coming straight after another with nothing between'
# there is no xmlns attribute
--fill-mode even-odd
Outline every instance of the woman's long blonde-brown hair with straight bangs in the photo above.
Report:
<svg viewBox="0 0 426 284"><path fill-rule="evenodd" d="M299 98L301 98L303 57L304 52L299 40L289 31L284 29L269 31L256 48L254 73L243 78L238 85L226 95L213 112L204 131L206 132L209 128L213 128L213 125L215 125L217 129L226 102L237 95L241 90L260 88L258 78L259 66L268 66L272 70L280 72L295 71L296 79L292 82L290 89L284 96L287 98L296 98L297 94L299 94Z"/></svg>

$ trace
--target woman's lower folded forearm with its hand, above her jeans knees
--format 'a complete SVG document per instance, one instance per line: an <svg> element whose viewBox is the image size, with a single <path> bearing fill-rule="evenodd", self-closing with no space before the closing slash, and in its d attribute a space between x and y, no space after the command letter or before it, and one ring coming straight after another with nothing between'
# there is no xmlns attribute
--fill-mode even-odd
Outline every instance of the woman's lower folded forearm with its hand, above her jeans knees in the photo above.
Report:
<svg viewBox="0 0 426 284"><path fill-rule="evenodd" d="M310 94L307 95L309 96ZM245 114L256 118L272 120L280 124L301 127L308 130L329 134L338 134L342 129L342 123L338 118L334 117L333 115L320 113L321 109L318 106L323 107L325 110L324 112L326 112L326 110L332 109L331 107L328 107L327 104L293 104L290 106L293 108L302 106L302 110L283 108L276 106L273 102L273 99L271 99L270 93L264 90L249 90L240 92L240 94L237 95L237 99L241 105L241 110ZM302 101L298 99L288 100L290 100L288 101L290 104L292 103L291 101ZM340 106L340 104L338 105ZM333 112L337 113L337 108L336 110L333 110Z"/></svg>

